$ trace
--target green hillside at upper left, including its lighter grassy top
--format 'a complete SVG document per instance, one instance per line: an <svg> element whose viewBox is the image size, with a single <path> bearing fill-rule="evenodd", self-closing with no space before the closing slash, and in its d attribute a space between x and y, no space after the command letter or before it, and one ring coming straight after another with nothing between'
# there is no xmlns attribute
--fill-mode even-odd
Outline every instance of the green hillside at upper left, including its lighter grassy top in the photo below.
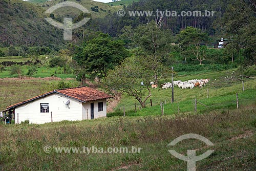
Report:
<svg viewBox="0 0 256 171"><path fill-rule="evenodd" d="M0 1L0 47L56 47L65 44L62 39L63 31L51 26L44 19L47 17L44 14L46 9L58 2L60 1L32 4L22 0ZM81 1L80 4L89 10L92 19L103 18L118 9L98 2ZM55 20L61 22L63 17L72 17L74 20L80 13L79 9L65 7L65 10L57 9L53 14Z"/></svg>

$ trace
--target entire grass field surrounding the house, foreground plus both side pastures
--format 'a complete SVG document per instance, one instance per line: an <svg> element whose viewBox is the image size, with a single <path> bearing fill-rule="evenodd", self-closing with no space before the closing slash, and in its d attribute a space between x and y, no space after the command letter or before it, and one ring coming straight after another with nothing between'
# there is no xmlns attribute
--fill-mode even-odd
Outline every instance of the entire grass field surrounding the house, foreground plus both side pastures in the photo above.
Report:
<svg viewBox="0 0 256 171"><path fill-rule="evenodd" d="M169 154L168 149L184 155L187 149L196 149L197 155L213 149L214 153L208 158L197 162L197 170L255 170L256 80L247 79L243 92L240 81L224 79L228 72L231 70L177 73L175 80L210 78L211 81L202 89L175 87L175 103L170 103L170 89L154 89L151 97L154 106L148 101L147 108L139 111L137 103L137 113L134 112L136 101L123 95L116 111L109 113L108 118L40 125L0 124L0 170L186 170L187 163ZM55 89L59 81L0 79L0 111L10 104ZM78 86L74 80L61 81ZM169 78L160 83L165 81ZM236 93L239 109L236 109ZM198 104L196 114L194 98L209 108ZM165 100L165 115L161 116L159 102ZM123 114L123 106L126 117L116 116ZM174 147L168 146L175 138L188 133L204 136L214 146L206 146L198 140L183 140ZM50 153L44 151L47 145L51 147ZM131 151L134 146L141 148L141 153L91 151L88 154L83 146L103 151L108 147L127 147ZM57 153L56 149L61 147L73 149L70 153Z"/></svg>

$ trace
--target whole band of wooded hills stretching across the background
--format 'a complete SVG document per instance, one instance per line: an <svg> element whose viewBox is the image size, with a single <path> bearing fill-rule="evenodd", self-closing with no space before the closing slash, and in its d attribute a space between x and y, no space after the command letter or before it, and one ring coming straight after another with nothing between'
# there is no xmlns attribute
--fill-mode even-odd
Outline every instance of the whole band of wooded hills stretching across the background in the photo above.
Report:
<svg viewBox="0 0 256 171"><path fill-rule="evenodd" d="M122 33L124 26L136 28L147 24L151 20L160 21L161 29L167 29L171 33L178 34L180 30L192 26L207 32L211 36L227 37L242 35L244 29L254 28L255 0L140 0L128 6L111 6L88 0L70 0L86 7L91 14L91 20L78 29L73 30L73 43L78 44L95 32L108 33L115 37ZM45 10L61 2L29 3L22 0L0 1L0 46L61 46L63 31L56 29L46 22ZM253 5L254 2L254 5ZM66 8L66 7L65 7ZM117 10L123 8L124 16L118 16ZM211 17L193 16L129 16L129 11L215 11ZM77 12L78 11L78 12ZM62 22L63 17L72 16L77 21L77 10L56 10L52 16ZM68 12L66 14L66 12ZM65 14L65 15L64 15ZM155 14L155 13L154 13ZM75 18L76 17L76 18ZM246 26L246 27L245 27ZM248 26L248 27L247 27ZM251 30L251 29L249 29ZM252 29L254 30L254 29ZM251 33L253 34L253 33ZM242 35L245 38L247 35ZM242 37L241 37L242 38ZM247 39L245 39L247 40ZM248 44L248 42L244 42Z"/></svg>

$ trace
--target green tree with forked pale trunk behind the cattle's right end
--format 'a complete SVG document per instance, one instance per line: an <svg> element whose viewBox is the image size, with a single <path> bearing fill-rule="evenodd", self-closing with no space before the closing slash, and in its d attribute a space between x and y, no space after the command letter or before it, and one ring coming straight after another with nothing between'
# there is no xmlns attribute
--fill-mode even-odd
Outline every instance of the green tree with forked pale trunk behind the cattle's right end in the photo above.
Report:
<svg viewBox="0 0 256 171"><path fill-rule="evenodd" d="M201 47L201 44L205 44L209 40L208 34L200 29L187 27L180 31L178 37L183 51L191 51L195 57L193 60L198 60L202 65L202 61L206 60L206 52L205 47Z"/></svg>

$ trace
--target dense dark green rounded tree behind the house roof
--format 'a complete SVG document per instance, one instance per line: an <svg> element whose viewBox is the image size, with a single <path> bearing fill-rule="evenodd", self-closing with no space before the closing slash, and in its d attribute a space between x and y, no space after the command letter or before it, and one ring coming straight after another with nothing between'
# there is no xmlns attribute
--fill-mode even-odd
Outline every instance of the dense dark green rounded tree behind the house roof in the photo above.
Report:
<svg viewBox="0 0 256 171"><path fill-rule="evenodd" d="M122 40L112 40L108 34L100 33L78 47L74 59L91 75L102 78L128 55Z"/></svg>

